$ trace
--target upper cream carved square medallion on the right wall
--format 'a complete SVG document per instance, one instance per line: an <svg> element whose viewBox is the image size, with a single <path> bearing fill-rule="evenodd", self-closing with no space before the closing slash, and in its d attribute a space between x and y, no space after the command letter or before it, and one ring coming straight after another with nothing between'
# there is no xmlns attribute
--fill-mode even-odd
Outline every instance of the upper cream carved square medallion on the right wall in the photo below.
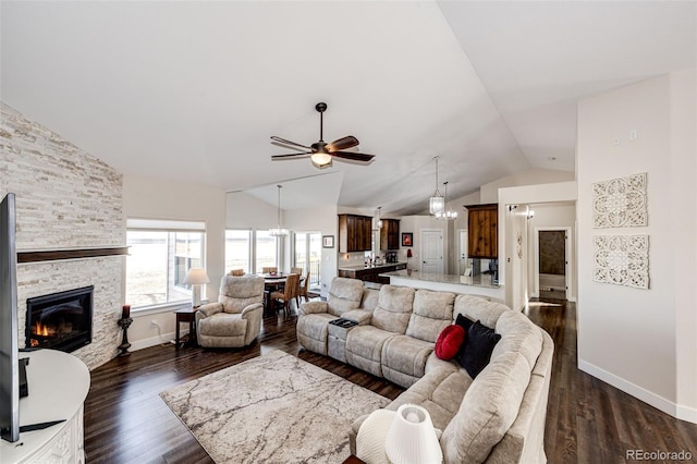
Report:
<svg viewBox="0 0 697 464"><path fill-rule="evenodd" d="M594 183L592 227L603 229L647 225L646 184L646 172Z"/></svg>

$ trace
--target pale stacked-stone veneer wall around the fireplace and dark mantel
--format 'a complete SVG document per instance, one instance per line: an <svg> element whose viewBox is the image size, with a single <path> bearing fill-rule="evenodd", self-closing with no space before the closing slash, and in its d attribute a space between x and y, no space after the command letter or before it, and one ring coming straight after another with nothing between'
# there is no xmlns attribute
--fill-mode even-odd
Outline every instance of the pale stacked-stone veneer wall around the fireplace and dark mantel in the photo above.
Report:
<svg viewBox="0 0 697 464"><path fill-rule="evenodd" d="M122 175L9 106L0 109L0 198L16 195L17 251L123 246ZM73 354L90 369L115 357L124 266L124 256L17 265L20 346L28 297L95 285L93 341Z"/></svg>

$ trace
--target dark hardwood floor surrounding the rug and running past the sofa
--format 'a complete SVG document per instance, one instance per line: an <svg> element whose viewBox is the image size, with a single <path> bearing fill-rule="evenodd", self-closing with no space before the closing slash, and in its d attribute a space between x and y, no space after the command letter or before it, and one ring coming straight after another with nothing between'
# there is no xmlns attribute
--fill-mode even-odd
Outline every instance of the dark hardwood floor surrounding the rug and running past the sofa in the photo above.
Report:
<svg viewBox="0 0 697 464"><path fill-rule="evenodd" d="M635 449L685 450L697 459L697 425L672 418L577 369L573 304L531 303L526 313L552 335L555 345L545 434L549 462L632 462L626 453ZM95 369L85 402L87 462L212 462L158 393L277 349L390 399L403 391L345 364L301 351L295 321L295 316L266 318L258 341L246 349L175 350L166 344L134 352Z"/></svg>

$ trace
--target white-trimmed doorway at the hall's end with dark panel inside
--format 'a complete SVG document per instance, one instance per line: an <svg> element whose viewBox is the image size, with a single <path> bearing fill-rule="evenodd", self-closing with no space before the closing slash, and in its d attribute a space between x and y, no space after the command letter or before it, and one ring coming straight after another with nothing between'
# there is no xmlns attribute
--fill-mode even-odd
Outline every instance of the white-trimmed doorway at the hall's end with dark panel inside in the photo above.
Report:
<svg viewBox="0 0 697 464"><path fill-rule="evenodd" d="M534 296L568 300L571 292L571 228L535 229Z"/></svg>

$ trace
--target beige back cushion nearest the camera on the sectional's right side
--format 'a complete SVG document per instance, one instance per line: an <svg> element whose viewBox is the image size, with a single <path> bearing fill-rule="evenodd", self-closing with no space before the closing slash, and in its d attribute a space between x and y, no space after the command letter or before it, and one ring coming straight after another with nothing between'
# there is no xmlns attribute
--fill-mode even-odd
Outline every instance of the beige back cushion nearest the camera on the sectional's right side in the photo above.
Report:
<svg viewBox="0 0 697 464"><path fill-rule="evenodd" d="M443 430L445 462L484 462L515 422L529 382L530 370L522 354L509 352L492 359Z"/></svg>

